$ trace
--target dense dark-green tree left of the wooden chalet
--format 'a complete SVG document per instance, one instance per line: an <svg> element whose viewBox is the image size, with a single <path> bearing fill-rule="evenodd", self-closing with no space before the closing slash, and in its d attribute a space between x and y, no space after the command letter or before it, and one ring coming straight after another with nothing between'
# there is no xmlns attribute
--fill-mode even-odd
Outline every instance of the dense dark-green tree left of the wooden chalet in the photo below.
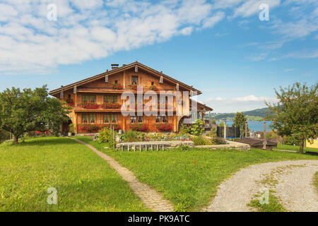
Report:
<svg viewBox="0 0 318 226"><path fill-rule="evenodd" d="M69 119L69 109L57 98L48 97L46 85L35 90L6 89L0 93L0 129L13 134L13 143L30 131L57 134L61 123Z"/></svg>

